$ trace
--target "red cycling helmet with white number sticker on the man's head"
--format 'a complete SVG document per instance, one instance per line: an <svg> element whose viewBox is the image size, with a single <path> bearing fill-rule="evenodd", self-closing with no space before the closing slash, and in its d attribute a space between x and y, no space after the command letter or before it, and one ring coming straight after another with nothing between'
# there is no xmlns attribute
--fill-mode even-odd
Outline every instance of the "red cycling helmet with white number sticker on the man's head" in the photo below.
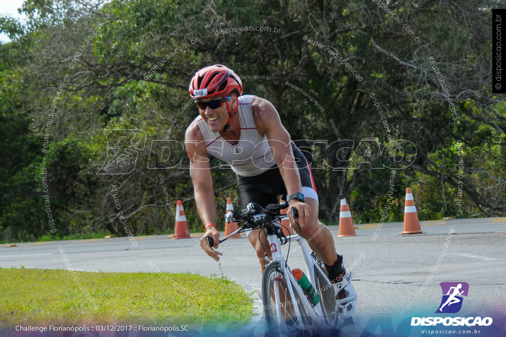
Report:
<svg viewBox="0 0 506 337"><path fill-rule="evenodd" d="M199 99L204 97L228 96L235 93L242 94L242 82L232 69L216 64L205 67L195 73L190 82L190 97Z"/></svg>

